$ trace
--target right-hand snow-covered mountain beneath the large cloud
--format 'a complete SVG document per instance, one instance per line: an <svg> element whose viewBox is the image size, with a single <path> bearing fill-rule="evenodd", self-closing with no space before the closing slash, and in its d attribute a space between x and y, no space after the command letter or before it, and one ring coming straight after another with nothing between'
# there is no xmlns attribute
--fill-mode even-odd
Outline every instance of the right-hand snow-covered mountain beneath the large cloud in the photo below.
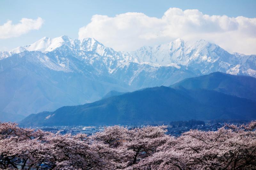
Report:
<svg viewBox="0 0 256 170"><path fill-rule="evenodd" d="M124 54L134 56L139 63L148 62L160 65L176 63L198 69L202 74L221 71L230 74L256 76L255 55L230 54L220 46L205 40L185 42L177 39L153 47L144 46Z"/></svg>

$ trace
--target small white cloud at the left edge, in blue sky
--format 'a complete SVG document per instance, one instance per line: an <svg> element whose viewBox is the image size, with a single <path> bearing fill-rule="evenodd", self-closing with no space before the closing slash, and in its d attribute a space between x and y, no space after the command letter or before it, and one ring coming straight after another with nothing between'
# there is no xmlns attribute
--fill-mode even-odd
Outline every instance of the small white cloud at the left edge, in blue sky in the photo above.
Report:
<svg viewBox="0 0 256 170"><path fill-rule="evenodd" d="M37 19L22 18L18 24L12 24L12 21L9 20L0 26L0 39L18 37L31 30L38 30L43 23L44 20L40 17Z"/></svg>

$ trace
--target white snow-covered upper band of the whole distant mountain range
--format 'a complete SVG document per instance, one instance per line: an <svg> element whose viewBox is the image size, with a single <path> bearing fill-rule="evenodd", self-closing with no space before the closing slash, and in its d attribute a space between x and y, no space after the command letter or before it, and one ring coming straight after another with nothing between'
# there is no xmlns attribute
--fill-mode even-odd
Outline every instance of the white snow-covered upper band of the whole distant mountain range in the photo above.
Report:
<svg viewBox="0 0 256 170"><path fill-rule="evenodd" d="M119 66L139 63L153 67L176 66L179 68L185 66L198 69L202 74L215 71L229 71L233 74L245 75L256 74L255 55L230 54L220 46L203 39L188 42L179 38L161 45L143 46L135 51L119 52L105 47L94 38L72 40L63 35L53 39L44 37L33 44L18 47L9 52L0 52L0 60L24 51L41 51L43 53L58 51L56 61L62 64L61 67L70 65L68 58L74 56L85 63L94 64L93 67L107 68L109 72ZM65 63L61 61L64 59L67 60ZM251 70L248 72L248 69Z"/></svg>

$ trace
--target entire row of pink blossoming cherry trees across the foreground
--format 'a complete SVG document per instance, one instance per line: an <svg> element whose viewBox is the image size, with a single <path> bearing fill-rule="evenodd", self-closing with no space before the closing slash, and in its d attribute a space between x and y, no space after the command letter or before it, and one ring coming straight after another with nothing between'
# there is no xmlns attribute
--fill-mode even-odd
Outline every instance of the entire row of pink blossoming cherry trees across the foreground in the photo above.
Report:
<svg viewBox="0 0 256 170"><path fill-rule="evenodd" d="M255 169L255 129L252 121L172 137L166 126L111 126L92 136L72 136L0 123L0 168Z"/></svg>

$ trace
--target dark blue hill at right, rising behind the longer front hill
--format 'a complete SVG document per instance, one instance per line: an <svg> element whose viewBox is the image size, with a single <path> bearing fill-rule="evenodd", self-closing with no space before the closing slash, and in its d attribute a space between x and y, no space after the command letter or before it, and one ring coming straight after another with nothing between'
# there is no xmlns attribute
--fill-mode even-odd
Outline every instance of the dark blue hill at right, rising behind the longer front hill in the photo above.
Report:
<svg viewBox="0 0 256 170"><path fill-rule="evenodd" d="M256 78L250 76L214 72L195 78L186 78L170 87L177 88L179 86L186 89L215 90L256 101Z"/></svg>

